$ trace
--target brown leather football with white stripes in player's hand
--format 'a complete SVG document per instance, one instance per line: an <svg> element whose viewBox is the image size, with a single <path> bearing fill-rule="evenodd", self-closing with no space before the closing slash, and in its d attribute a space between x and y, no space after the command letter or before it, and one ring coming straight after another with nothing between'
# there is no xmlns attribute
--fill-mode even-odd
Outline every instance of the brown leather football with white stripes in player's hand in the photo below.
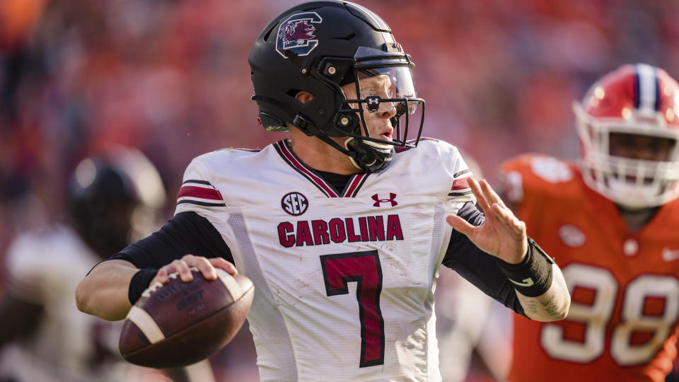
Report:
<svg viewBox="0 0 679 382"><path fill-rule="evenodd" d="M210 357L240 330L253 303L253 282L220 269L208 280L191 270L191 282L170 274L132 306L118 344L126 361L156 369L187 366Z"/></svg>

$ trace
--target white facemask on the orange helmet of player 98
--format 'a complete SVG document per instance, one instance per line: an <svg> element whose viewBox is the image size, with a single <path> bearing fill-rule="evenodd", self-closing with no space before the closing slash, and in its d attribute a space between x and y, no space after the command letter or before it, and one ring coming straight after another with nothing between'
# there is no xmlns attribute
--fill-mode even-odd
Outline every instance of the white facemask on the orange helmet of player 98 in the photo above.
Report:
<svg viewBox="0 0 679 382"><path fill-rule="evenodd" d="M574 110L583 145L584 180L590 187L632 210L657 207L679 196L679 131L667 129L661 115L629 110L628 119L593 118L579 104ZM615 141L634 137L644 137L664 154L651 159L616 152Z"/></svg>

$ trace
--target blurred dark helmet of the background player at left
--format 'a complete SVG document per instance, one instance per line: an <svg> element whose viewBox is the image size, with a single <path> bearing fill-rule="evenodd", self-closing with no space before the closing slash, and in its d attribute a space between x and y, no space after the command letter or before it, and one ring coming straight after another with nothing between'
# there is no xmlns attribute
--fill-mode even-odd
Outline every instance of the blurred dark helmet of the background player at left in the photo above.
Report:
<svg viewBox="0 0 679 382"><path fill-rule="evenodd" d="M156 229L156 214L165 202L153 164L140 151L122 146L79 161L67 187L71 224L104 257Z"/></svg>

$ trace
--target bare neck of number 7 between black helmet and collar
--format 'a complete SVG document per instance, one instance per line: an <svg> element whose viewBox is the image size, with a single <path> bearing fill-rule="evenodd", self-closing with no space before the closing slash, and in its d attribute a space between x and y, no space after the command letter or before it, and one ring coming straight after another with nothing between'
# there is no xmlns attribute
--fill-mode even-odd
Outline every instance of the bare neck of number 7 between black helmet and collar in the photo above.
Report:
<svg viewBox="0 0 679 382"><path fill-rule="evenodd" d="M306 166L314 170L349 175L360 173L349 156L333 148L318 137L308 137L298 129L290 129L292 151Z"/></svg>

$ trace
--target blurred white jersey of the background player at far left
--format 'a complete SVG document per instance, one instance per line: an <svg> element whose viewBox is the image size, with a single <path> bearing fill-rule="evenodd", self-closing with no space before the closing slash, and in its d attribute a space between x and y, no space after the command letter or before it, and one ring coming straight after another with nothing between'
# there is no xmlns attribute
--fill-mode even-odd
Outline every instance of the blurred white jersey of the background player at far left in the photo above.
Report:
<svg viewBox="0 0 679 382"><path fill-rule="evenodd" d="M67 226L45 226L15 238L7 252L8 291L43 306L37 328L2 349L0 379L124 381L117 351L122 323L78 311L78 282L99 261Z"/></svg>

